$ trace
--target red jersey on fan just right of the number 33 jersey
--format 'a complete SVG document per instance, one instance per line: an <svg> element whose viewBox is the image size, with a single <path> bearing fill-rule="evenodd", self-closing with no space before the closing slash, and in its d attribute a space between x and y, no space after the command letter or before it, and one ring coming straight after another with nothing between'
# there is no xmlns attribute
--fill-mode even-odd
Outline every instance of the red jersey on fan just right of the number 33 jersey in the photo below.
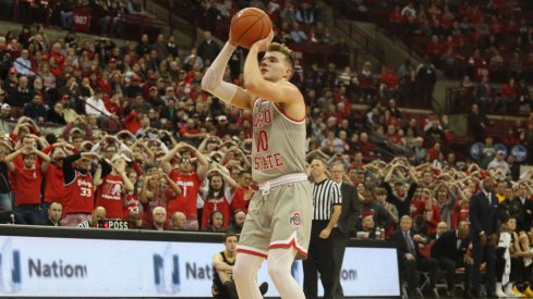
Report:
<svg viewBox="0 0 533 299"><path fill-rule="evenodd" d="M106 208L108 219L122 219L124 216L124 197L122 196L124 180L120 175L112 174L108 174L101 180L96 196L96 205Z"/></svg>

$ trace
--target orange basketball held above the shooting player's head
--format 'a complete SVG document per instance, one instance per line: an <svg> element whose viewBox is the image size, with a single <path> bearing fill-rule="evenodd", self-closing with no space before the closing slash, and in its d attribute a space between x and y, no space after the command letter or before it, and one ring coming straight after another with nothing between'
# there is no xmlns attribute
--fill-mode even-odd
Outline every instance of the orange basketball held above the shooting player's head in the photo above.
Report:
<svg viewBox="0 0 533 299"><path fill-rule="evenodd" d="M246 49L266 38L271 29L270 17L259 9L243 9L231 18L231 40Z"/></svg>

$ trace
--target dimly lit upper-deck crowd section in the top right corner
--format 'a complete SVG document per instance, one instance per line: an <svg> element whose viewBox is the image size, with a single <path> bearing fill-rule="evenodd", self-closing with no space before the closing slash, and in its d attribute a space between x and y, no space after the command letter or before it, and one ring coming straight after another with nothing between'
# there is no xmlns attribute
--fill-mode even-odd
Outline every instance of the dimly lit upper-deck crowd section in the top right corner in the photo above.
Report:
<svg viewBox="0 0 533 299"><path fill-rule="evenodd" d="M520 109L526 114L532 104L529 92L533 82L533 27L529 21L532 11L531 5L519 2L351 3L355 3L353 7L360 13L376 20L392 38L426 57L445 75L462 79L453 90L452 112L464 111L475 102L485 112L508 114Z"/></svg>

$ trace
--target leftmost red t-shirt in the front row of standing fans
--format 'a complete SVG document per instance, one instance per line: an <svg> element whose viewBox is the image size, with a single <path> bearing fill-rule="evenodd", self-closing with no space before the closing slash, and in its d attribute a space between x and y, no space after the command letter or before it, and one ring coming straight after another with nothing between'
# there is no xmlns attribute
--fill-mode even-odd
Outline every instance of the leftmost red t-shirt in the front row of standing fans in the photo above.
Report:
<svg viewBox="0 0 533 299"><path fill-rule="evenodd" d="M40 184L43 172L36 160L33 170L15 167L13 183L16 188L15 207L22 204L40 204Z"/></svg>

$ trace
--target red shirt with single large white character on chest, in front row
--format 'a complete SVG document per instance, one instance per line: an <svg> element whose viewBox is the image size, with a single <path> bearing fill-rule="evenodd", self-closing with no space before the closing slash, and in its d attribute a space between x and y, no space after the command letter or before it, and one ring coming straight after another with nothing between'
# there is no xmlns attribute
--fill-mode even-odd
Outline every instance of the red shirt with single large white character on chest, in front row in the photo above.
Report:
<svg viewBox="0 0 533 299"><path fill-rule="evenodd" d="M170 178L180 187L180 196L172 199L168 203L168 215L174 212L182 212L187 219L191 215L197 215L196 198L199 192L199 177L196 173L183 174L178 171L170 172Z"/></svg>

